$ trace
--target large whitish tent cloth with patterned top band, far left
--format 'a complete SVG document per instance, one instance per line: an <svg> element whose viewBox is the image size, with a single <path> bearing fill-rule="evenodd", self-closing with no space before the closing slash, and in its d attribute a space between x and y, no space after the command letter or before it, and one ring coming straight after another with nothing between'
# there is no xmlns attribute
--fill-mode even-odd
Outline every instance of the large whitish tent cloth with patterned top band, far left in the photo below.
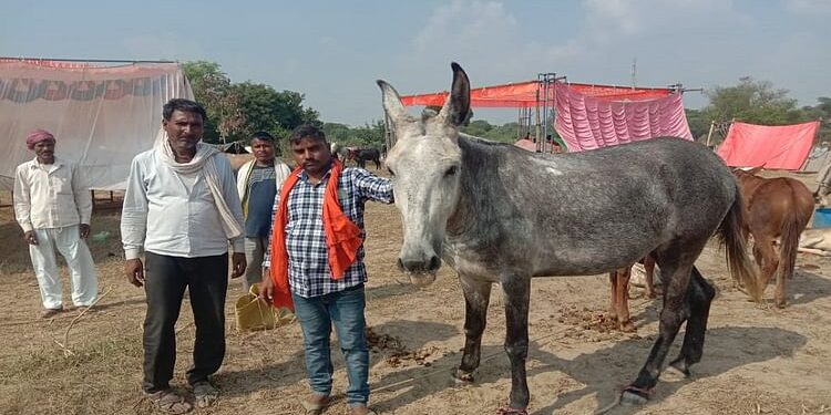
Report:
<svg viewBox="0 0 831 415"><path fill-rule="evenodd" d="M58 157L78 163L92 189L125 188L131 160L152 147L174 97L193 98L176 63L0 59L0 189L34 156L25 136L35 128L54 134Z"/></svg>

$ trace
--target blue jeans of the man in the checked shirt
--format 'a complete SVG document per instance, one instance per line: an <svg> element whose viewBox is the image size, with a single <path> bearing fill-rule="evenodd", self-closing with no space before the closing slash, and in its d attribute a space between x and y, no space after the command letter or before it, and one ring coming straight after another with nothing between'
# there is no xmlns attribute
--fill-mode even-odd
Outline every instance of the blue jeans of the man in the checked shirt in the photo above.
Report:
<svg viewBox="0 0 831 415"><path fill-rule="evenodd" d="M318 395L331 394L334 369L329 338L334 324L349 376L347 403L366 405L369 401L369 350L365 334L363 286L308 299L296 294L291 298L302 329L306 375L311 391Z"/></svg>

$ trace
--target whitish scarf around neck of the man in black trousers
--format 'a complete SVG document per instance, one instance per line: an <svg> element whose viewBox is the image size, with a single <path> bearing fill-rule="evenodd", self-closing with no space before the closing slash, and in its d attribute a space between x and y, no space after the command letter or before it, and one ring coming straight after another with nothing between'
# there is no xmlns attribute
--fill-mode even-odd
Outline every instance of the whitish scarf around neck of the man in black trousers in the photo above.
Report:
<svg viewBox="0 0 831 415"><path fill-rule="evenodd" d="M228 204L225 201L225 196L219 187L219 172L216 169L216 162L214 156L219 154L219 151L205 144L196 144L196 154L187 163L176 162L176 156L173 154L173 148L167 141L167 132L162 129L156 137L156 143L153 145L162 160L170 166L174 172L183 175L191 175L203 170L205 174L205 181L207 183L211 195L214 197L216 208L219 210L219 217L223 221L223 230L228 239L234 239L243 235L243 226L234 217L234 214L228 208Z"/></svg>

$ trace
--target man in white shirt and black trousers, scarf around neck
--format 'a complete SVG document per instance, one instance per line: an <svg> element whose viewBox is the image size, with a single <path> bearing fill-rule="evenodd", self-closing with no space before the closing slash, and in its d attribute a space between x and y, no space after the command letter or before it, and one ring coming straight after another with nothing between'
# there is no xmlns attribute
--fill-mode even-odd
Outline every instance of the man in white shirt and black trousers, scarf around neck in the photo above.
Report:
<svg viewBox="0 0 831 415"><path fill-rule="evenodd" d="M174 98L162 117L164 134L130 167L121 235L127 279L144 287L147 297L144 392L162 412L184 413L192 404L170 385L182 300L187 288L196 325L187 383L196 405L205 407L219 393L208 376L225 357L228 242L234 248L232 278L246 268L243 212L227 157L201 143L205 110Z"/></svg>

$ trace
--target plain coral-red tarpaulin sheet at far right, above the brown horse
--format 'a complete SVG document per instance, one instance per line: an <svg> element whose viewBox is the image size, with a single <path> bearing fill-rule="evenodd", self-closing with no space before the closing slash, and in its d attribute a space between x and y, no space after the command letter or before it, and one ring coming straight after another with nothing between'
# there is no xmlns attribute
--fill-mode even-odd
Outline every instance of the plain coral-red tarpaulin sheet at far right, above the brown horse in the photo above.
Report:
<svg viewBox="0 0 831 415"><path fill-rule="evenodd" d="M735 122L718 155L731 167L798 170L811 152L819 126L819 121L776 126Z"/></svg>

